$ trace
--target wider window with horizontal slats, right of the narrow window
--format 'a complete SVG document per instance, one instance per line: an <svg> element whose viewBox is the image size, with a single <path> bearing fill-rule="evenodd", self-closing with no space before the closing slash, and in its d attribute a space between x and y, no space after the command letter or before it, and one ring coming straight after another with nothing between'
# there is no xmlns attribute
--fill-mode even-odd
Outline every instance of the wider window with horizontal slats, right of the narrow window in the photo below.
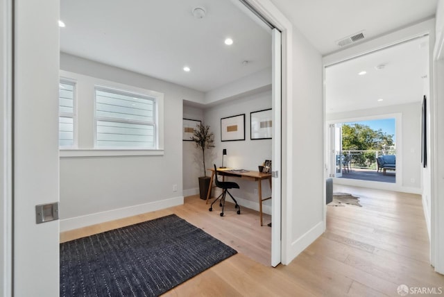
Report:
<svg viewBox="0 0 444 297"><path fill-rule="evenodd" d="M155 149L156 99L96 86L96 148Z"/></svg>

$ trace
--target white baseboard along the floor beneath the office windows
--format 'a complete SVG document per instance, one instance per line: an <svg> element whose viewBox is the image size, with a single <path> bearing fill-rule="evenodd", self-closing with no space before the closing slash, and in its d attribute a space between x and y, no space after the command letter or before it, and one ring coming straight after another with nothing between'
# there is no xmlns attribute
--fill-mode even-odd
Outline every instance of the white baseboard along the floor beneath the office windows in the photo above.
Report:
<svg viewBox="0 0 444 297"><path fill-rule="evenodd" d="M173 207L182 204L183 204L183 196L179 196L161 201L123 207L117 210L108 210L106 212L97 212L95 214L87 214L81 217L62 219L60 220L60 232L91 226L96 223L104 223L106 221L113 221L117 219L123 219L126 217L132 217L137 214L144 214L146 212L163 210L164 208Z"/></svg>

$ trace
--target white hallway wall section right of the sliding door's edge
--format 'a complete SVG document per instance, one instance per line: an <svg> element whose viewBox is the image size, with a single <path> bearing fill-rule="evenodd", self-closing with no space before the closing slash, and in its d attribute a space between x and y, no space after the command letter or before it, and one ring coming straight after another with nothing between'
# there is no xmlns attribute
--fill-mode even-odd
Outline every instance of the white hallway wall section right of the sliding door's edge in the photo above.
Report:
<svg viewBox="0 0 444 297"><path fill-rule="evenodd" d="M287 117L291 119L292 196L282 211L289 220L290 257L301 253L324 231L324 115L321 54L293 28L293 97ZM290 130L290 131L291 131ZM287 135L287 137L289 137Z"/></svg>

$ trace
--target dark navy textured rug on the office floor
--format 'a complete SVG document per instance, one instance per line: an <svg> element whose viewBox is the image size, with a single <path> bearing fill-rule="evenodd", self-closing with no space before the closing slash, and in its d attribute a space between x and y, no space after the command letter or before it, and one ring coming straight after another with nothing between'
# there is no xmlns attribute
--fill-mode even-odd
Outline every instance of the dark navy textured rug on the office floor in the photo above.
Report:
<svg viewBox="0 0 444 297"><path fill-rule="evenodd" d="M159 296L236 253L171 214L60 244L60 296Z"/></svg>

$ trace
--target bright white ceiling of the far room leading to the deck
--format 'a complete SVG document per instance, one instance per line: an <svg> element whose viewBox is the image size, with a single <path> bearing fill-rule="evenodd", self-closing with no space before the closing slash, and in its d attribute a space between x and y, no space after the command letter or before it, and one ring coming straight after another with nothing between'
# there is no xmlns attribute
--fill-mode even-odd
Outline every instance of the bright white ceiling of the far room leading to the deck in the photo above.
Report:
<svg viewBox="0 0 444 297"><path fill-rule="evenodd" d="M428 80L428 57L426 36L327 67L325 111L421 101ZM359 75L361 71L366 74Z"/></svg>

